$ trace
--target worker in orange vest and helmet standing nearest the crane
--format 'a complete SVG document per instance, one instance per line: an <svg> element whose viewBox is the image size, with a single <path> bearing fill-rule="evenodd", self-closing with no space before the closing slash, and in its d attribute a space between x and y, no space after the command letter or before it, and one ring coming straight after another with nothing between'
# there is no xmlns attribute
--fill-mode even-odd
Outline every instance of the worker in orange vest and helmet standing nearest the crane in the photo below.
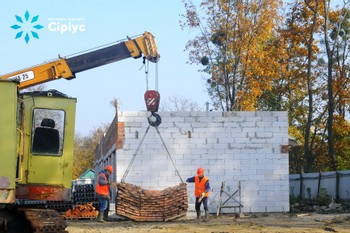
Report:
<svg viewBox="0 0 350 233"><path fill-rule="evenodd" d="M116 184L110 182L110 179L109 179L112 172L113 172L113 167L110 165L107 165L105 169L100 171L96 180L95 192L99 202L99 211L98 211L98 217L97 217L98 222L104 222L108 220L110 199L112 197L110 186L111 185L113 185L114 187L116 186Z"/></svg>

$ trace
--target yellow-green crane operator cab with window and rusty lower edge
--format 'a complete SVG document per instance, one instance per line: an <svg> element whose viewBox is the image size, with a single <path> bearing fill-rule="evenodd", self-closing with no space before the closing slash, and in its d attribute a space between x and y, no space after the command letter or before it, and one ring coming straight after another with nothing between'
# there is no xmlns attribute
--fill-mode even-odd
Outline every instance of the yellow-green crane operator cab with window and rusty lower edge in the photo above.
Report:
<svg viewBox="0 0 350 233"><path fill-rule="evenodd" d="M19 103L16 198L69 201L76 99L55 90L34 91L21 93Z"/></svg>

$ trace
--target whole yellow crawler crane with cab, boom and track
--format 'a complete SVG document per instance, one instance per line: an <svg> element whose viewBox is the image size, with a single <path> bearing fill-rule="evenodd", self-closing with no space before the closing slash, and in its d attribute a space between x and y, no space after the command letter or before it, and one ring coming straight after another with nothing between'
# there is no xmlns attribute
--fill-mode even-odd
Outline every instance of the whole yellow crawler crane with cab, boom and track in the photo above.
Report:
<svg viewBox="0 0 350 233"><path fill-rule="evenodd" d="M107 47L0 75L0 232L65 232L47 203L70 201L76 99L56 90L19 90L126 58L158 62L154 36L145 32Z"/></svg>

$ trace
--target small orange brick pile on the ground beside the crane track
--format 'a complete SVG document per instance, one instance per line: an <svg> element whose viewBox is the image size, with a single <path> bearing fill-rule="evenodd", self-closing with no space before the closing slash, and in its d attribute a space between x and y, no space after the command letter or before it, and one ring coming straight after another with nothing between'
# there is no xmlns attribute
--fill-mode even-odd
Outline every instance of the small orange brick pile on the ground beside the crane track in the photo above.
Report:
<svg viewBox="0 0 350 233"><path fill-rule="evenodd" d="M98 215L98 210L91 204L75 205L63 215L65 219L93 219Z"/></svg>

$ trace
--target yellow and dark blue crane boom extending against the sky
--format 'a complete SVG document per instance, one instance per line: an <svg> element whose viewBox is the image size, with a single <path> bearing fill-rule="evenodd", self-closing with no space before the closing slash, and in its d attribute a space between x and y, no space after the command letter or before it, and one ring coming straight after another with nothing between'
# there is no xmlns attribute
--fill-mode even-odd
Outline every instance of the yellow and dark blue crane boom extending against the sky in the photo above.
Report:
<svg viewBox="0 0 350 233"><path fill-rule="evenodd" d="M76 73L129 57L140 58L142 55L153 63L158 62L160 57L154 36L149 32L108 47L69 58L58 58L51 62L2 75L0 79L17 80L19 89L24 89L56 79L73 79Z"/></svg>

